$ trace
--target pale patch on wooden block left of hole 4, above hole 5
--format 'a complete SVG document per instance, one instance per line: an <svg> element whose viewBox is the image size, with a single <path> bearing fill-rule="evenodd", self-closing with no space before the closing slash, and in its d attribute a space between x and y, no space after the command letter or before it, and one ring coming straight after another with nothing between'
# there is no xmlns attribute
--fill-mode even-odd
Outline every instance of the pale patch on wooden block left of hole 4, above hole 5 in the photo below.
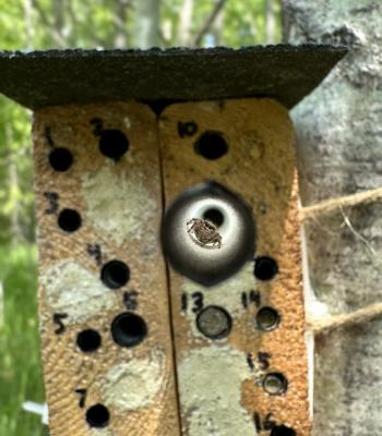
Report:
<svg viewBox="0 0 382 436"><path fill-rule="evenodd" d="M41 272L40 284L51 308L69 315L65 324L89 319L117 303L117 294L74 261L52 264Z"/></svg>

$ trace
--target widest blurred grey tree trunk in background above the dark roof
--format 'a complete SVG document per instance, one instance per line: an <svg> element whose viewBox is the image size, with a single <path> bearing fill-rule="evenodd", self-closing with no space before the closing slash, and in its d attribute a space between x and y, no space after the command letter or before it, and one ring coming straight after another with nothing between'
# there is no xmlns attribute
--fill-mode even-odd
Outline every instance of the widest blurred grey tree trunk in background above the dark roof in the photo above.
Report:
<svg viewBox="0 0 382 436"><path fill-rule="evenodd" d="M135 8L135 46L142 49L157 47L160 0L139 0Z"/></svg>

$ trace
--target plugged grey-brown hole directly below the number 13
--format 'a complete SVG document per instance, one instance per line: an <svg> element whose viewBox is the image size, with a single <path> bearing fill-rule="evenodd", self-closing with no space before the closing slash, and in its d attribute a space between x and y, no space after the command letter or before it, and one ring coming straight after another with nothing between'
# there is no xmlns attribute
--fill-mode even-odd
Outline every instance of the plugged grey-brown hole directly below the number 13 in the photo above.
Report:
<svg viewBox="0 0 382 436"><path fill-rule="evenodd" d="M210 339L223 339L232 328L229 313L219 306L206 306L196 316L196 326L201 334Z"/></svg>

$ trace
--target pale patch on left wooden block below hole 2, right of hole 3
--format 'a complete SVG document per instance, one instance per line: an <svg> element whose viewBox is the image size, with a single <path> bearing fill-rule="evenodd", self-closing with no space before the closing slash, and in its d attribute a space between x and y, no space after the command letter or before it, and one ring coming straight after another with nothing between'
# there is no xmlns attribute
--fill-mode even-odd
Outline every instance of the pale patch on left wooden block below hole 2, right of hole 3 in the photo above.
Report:
<svg viewBox="0 0 382 436"><path fill-rule="evenodd" d="M143 180L138 172L114 171L111 165L82 175L86 219L118 246L141 240L145 223L156 219L157 203Z"/></svg>

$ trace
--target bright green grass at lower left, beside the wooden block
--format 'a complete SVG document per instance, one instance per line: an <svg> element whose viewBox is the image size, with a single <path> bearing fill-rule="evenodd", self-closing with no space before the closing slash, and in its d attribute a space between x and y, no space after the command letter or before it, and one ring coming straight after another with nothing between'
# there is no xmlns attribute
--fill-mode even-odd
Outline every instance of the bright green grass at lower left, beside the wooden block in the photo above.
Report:
<svg viewBox="0 0 382 436"><path fill-rule="evenodd" d="M44 402L37 325L36 250L0 247L3 316L0 325L0 435L41 436L40 419L22 411L25 399Z"/></svg>

